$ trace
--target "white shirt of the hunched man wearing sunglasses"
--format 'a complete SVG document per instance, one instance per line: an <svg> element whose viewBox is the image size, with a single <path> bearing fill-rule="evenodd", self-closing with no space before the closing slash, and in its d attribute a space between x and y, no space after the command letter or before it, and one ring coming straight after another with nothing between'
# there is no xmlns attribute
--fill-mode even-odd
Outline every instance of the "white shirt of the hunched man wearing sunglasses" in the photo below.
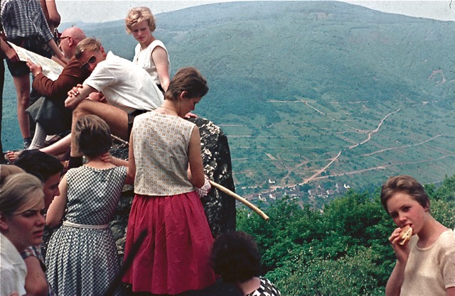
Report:
<svg viewBox="0 0 455 296"><path fill-rule="evenodd" d="M135 110L154 110L164 100L146 70L110 51L84 84L102 92L109 104L128 114Z"/></svg>

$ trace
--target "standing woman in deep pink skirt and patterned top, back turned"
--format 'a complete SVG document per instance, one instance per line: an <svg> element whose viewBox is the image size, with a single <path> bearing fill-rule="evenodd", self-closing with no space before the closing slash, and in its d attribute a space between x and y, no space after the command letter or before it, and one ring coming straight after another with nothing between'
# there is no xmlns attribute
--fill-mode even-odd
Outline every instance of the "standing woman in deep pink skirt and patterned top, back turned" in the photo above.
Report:
<svg viewBox="0 0 455 296"><path fill-rule="evenodd" d="M178 70L158 109L134 119L129 174L134 201L125 258L146 230L146 239L123 280L134 292L178 295L215 283L209 256L213 237L198 194L203 161L198 127L184 119L208 86L193 67Z"/></svg>

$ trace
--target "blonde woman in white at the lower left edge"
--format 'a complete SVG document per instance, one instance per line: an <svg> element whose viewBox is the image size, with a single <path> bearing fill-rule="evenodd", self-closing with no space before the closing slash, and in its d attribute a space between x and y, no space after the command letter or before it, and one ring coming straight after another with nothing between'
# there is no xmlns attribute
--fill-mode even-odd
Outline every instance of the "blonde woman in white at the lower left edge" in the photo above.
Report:
<svg viewBox="0 0 455 296"><path fill-rule="evenodd" d="M43 184L25 172L5 178L0 194L0 295L25 295L27 268L21 252L43 241Z"/></svg>

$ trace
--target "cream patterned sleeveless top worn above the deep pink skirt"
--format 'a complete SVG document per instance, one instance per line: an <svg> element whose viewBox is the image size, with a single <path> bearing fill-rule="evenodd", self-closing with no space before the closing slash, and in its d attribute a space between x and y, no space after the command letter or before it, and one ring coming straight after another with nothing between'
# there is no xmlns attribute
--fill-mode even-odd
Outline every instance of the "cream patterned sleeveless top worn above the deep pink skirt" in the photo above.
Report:
<svg viewBox="0 0 455 296"><path fill-rule="evenodd" d="M195 190L187 175L188 145L195 126L180 117L154 112L134 119L134 193L170 196Z"/></svg>

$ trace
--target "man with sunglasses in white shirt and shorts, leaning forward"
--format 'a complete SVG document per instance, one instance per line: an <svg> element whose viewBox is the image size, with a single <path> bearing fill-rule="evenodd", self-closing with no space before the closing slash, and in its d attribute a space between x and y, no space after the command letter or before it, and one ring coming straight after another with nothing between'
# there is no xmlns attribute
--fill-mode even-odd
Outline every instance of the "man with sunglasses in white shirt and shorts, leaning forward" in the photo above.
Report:
<svg viewBox="0 0 455 296"><path fill-rule="evenodd" d="M65 101L65 106L73 109L69 168L82 164L82 154L74 137L74 124L80 116L100 116L112 133L128 140L134 117L158 108L164 100L146 70L112 52L106 53L100 40L82 40L77 45L75 57L92 74L82 85L73 87ZM92 92L102 92L107 104L86 99Z"/></svg>

